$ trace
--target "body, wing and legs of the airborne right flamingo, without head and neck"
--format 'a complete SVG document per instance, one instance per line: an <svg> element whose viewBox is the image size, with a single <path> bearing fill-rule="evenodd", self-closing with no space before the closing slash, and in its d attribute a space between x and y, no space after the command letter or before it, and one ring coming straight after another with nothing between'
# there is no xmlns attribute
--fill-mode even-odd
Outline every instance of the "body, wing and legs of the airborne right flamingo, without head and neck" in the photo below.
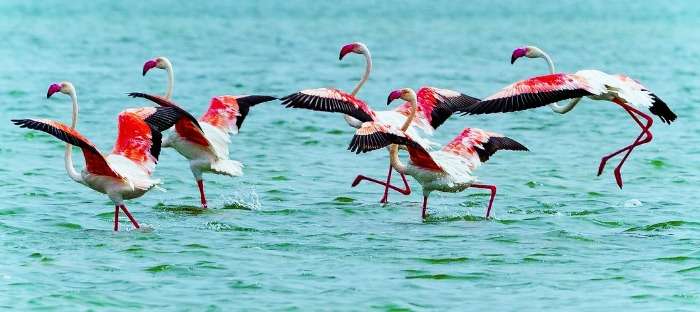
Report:
<svg viewBox="0 0 700 312"><path fill-rule="evenodd" d="M668 124L677 118L664 101L630 77L611 75L598 70L537 76L515 82L463 112L464 114L514 112L574 99L573 105L570 103L563 107L564 110L570 110L578 102L577 99L584 96L592 100L610 101L621 106L642 129L632 144L603 156L598 166L598 175L601 175L610 158L626 152L614 171L615 182L622 188L622 165L635 147L649 143L652 139L649 128L653 124L653 119L642 113L639 108L648 108L652 114L659 116L662 122ZM639 117L646 123L642 123Z"/></svg>

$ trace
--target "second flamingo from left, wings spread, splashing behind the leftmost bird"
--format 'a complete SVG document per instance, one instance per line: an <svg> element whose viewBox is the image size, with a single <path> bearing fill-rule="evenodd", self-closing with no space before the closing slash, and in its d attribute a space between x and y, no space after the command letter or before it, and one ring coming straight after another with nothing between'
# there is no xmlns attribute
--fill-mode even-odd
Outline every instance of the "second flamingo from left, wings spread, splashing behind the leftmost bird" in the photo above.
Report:
<svg viewBox="0 0 700 312"><path fill-rule="evenodd" d="M165 98L143 93L131 93L133 97L143 97L163 107L178 107L170 101L173 93L173 66L165 57L157 57L143 64L143 75L151 68L164 69L168 74L168 87ZM266 95L222 95L213 97L209 109L196 120L181 118L175 124L175 131L164 141L163 147L172 147L190 162L190 170L197 181L202 208L207 208L202 174L210 172L231 177L243 174L243 164L229 159L230 136L238 134L243 121L252 106L276 100ZM200 127L201 126L201 127Z"/></svg>

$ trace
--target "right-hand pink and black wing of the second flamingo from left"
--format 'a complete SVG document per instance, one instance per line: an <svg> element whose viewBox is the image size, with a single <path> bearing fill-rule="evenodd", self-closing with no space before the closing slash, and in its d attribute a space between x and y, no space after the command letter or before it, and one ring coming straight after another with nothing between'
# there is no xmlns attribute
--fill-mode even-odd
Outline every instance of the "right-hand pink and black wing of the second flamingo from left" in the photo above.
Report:
<svg viewBox="0 0 700 312"><path fill-rule="evenodd" d="M209 109L199 119L225 133L238 133L251 106L276 100L266 95L222 95L211 99Z"/></svg>

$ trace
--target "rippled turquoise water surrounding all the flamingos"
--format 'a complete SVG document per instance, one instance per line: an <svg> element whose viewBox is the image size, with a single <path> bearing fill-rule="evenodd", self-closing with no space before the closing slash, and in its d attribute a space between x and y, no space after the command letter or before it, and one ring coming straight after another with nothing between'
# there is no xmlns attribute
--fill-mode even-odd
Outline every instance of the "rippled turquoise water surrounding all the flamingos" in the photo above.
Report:
<svg viewBox="0 0 700 312"><path fill-rule="evenodd" d="M700 303L700 5L694 1L0 2L0 307L15 310L697 310ZM63 145L8 119L68 122L71 80L78 128L102 150L117 113L162 93L165 74L141 77L158 55L175 67L174 98L195 115L220 94L282 96L350 90L363 70L345 43L361 40L375 69L361 92L380 109L387 93L424 84L487 96L543 73L512 66L523 44L565 71L596 68L641 80L679 115L658 119L654 141L632 154L619 190L599 158L638 128L619 108L584 101L549 109L454 116L434 140L465 126L504 133L531 149L502 152L477 175L487 192L391 194L357 173L385 174L386 153L345 151L339 115L255 107L232 158L245 176L206 176L212 209L185 160L164 150L167 192L127 204L150 230L111 231L112 205L73 183ZM80 159L80 158L79 158ZM122 218L126 221L126 218ZM130 229L126 222L123 229Z"/></svg>

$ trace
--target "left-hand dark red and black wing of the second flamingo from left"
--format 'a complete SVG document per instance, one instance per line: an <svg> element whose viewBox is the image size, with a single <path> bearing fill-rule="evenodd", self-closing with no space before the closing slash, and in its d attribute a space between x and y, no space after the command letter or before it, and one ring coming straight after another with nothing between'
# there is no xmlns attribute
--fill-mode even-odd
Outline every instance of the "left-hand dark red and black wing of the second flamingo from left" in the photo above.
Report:
<svg viewBox="0 0 700 312"><path fill-rule="evenodd" d="M211 147L211 142L207 139L206 135L204 134L204 131L202 130L202 126L199 124L199 121L197 121L194 116L192 116L190 113L188 113L186 110L184 110L182 107L179 105L175 104L174 102L161 97L157 95L151 95L151 94L146 94L146 93L139 93L139 92L132 92L129 93L129 96L131 97L140 97L140 98L145 98L147 100L150 100L161 107L167 107L167 108L172 108L177 111L177 121L175 122L175 132L184 140L187 140L191 143L197 144L202 146L205 149L209 149L212 152L213 148ZM148 122L152 122L155 124L155 120L149 120ZM167 123L166 123L167 125ZM167 127L169 128L169 127ZM167 129L166 128L166 129ZM162 129L162 127L158 127L158 130ZM165 129L163 129L165 130ZM160 130L160 131L163 131Z"/></svg>

